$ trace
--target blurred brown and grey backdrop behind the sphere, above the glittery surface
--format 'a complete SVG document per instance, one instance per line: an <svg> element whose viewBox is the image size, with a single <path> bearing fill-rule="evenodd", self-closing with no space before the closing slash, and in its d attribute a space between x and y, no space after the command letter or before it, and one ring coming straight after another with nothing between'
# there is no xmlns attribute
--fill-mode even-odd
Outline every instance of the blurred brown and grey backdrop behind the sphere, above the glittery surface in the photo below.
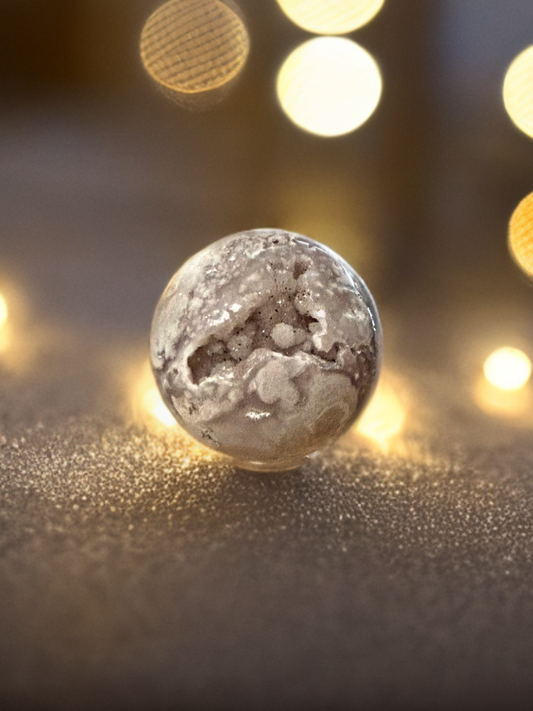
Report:
<svg viewBox="0 0 533 711"><path fill-rule="evenodd" d="M533 188L533 141L502 100L509 65L533 43L528 0L387 0L346 35L377 62L381 99L336 137L281 108L281 65L316 32L275 0L233 6L248 61L203 111L143 68L141 31L160 6L0 5L0 280L37 318L147 334L186 257L275 226L352 263L391 353L454 369L470 357L479 367L493 346L529 346L533 290L507 226Z"/></svg>

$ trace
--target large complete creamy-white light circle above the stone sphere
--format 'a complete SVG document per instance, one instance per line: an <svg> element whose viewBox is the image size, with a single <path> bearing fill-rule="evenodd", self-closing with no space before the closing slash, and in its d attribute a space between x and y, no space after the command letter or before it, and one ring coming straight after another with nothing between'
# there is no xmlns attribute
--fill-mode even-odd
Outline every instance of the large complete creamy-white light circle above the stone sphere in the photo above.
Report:
<svg viewBox="0 0 533 711"><path fill-rule="evenodd" d="M341 136L361 126L381 97L381 74L370 54L342 37L316 37L297 47L278 74L287 116L319 136Z"/></svg>

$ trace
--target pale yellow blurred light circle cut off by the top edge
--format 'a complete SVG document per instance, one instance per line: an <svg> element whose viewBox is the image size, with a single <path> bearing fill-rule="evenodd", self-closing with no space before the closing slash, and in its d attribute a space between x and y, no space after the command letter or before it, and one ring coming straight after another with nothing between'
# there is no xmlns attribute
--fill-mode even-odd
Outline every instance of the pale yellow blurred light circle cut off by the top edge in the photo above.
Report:
<svg viewBox="0 0 533 711"><path fill-rule="evenodd" d="M317 35L344 35L377 15L385 0L278 0L287 17Z"/></svg>

